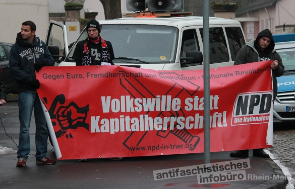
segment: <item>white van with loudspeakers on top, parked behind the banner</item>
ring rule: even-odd
[[[114,64],[156,70],[203,69],[203,17],[178,15],[98,22],[101,37],[112,43]],[[233,65],[246,41],[240,22],[210,18],[209,23],[210,67]],[[76,44],[87,38],[84,29],[69,52],[66,31],[65,25],[49,22],[46,44],[56,66],[74,66]]]

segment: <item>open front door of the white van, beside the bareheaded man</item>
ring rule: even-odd
[[[69,53],[67,28],[64,24],[53,20],[49,21],[48,31],[46,35],[46,45],[50,54],[58,66],[65,60]]]

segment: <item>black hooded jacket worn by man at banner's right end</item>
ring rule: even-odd
[[[262,51],[262,52],[257,46],[258,40],[261,37],[268,37],[271,39],[271,42],[268,45],[268,47],[266,47],[264,49],[264,51]],[[267,54],[271,60],[277,60],[278,67],[275,70],[272,70],[273,95],[275,98],[276,94],[277,94],[277,79],[276,79],[276,77],[283,75],[285,67],[283,65],[280,55],[274,49],[274,46],[275,46],[275,44],[274,44],[274,40],[273,40],[271,32],[268,29],[265,29],[257,35],[256,39],[251,40],[250,42],[248,42],[246,45],[244,45],[239,50],[233,65],[262,61],[260,59],[261,57],[259,56],[260,54]]]

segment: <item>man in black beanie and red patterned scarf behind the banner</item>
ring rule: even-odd
[[[73,54],[76,66],[114,65],[114,53],[109,41],[100,37],[99,23],[91,20],[87,23],[87,39],[79,41]]]

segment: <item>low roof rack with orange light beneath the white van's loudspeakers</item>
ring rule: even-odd
[[[126,17],[182,17],[182,16],[193,16],[193,12],[150,12],[144,11],[139,13],[126,13]]]

